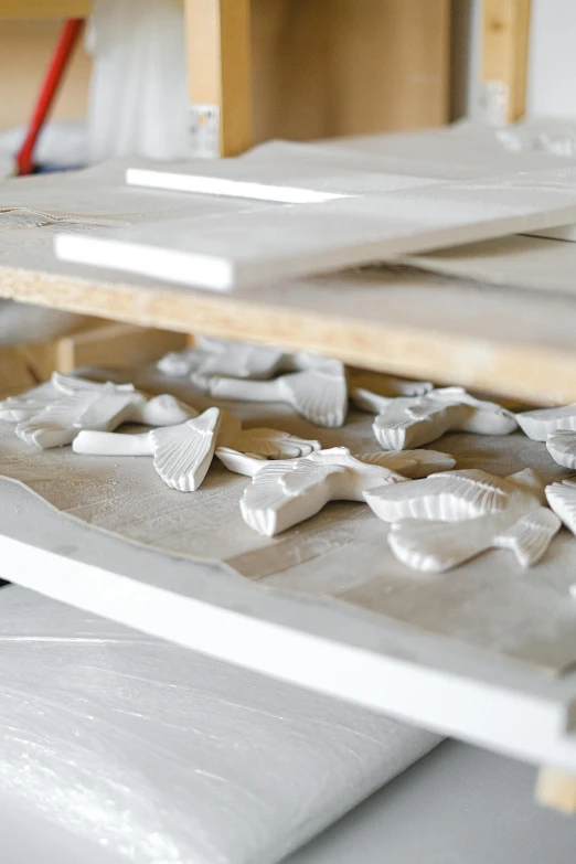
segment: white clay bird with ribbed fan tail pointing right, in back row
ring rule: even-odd
[[[203,385],[217,398],[286,403],[318,426],[342,426],[348,412],[345,372],[338,360],[321,360],[271,381],[213,376]]]

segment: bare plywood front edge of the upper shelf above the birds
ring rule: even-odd
[[[576,402],[576,351],[536,341],[488,341],[469,331],[359,320],[167,286],[116,282],[111,288],[97,280],[9,267],[0,267],[0,297],[146,328],[277,344],[377,372],[461,384],[529,402]],[[456,362],[459,356],[466,363]]]

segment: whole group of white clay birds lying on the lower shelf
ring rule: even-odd
[[[447,431],[508,435],[520,426],[561,466],[576,469],[576,405],[513,414],[461,387],[395,378],[381,378],[383,396],[350,381],[339,361],[211,339],[168,354],[158,369],[167,381],[188,378],[215,399],[286,403],[323,427],[342,426],[352,401],[375,415],[382,449],[322,449],[318,440],[286,431],[244,429],[221,407],[199,414],[169,394],[149,397],[131,384],[57,373],[1,402],[0,419],[40,448],[72,444],[76,454],[150,456],[163,482],[181,492],[199,489],[215,456],[252,478],[242,516],[267,536],[310,519],[329,501],[365,501],[390,523],[396,557],[420,570],[444,570],[491,547],[509,548],[529,566],[544,555],[561,521],[576,533],[576,481],[545,486],[530,468],[506,478],[454,470],[451,456],[415,449]],[[114,431],[126,423],[152,428]]]

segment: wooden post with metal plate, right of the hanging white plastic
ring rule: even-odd
[[[195,150],[236,156],[252,145],[250,0],[184,0]]]

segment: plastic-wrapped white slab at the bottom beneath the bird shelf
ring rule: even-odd
[[[0,797],[122,861],[273,864],[439,742],[15,586],[0,602]]]

